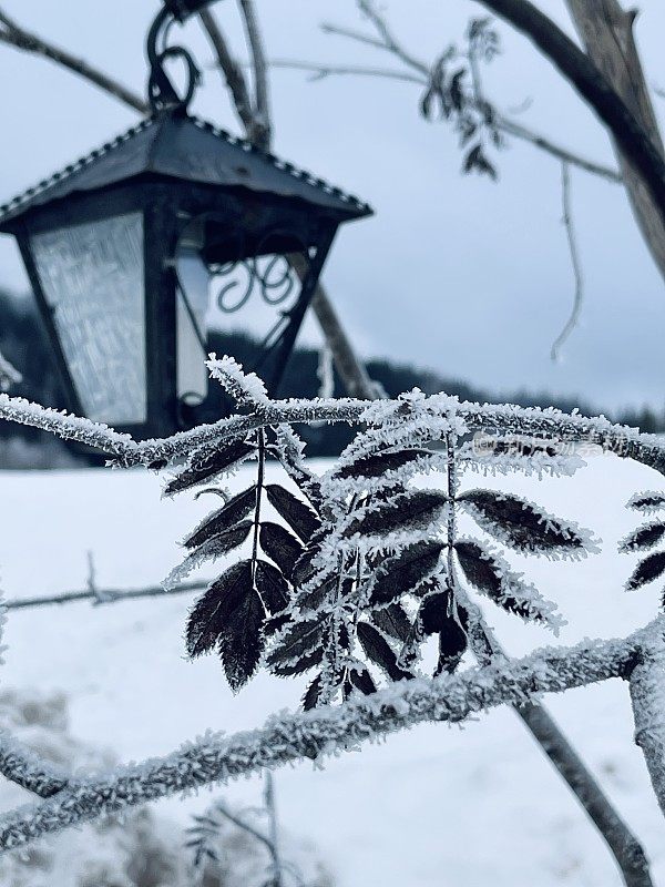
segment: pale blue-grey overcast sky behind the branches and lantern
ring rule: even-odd
[[[540,0],[569,32],[563,0]],[[94,60],[143,91],[143,41],[156,0],[6,0],[25,26]],[[272,58],[393,65],[389,57],[324,34],[334,21],[366,28],[354,0],[257,0]],[[423,60],[460,40],[467,0],[383,0],[391,26]],[[665,8],[644,0],[637,38],[652,84],[665,85]],[[245,55],[233,0],[217,14]],[[613,164],[592,112],[531,44],[499,23],[503,52],[485,72],[502,109],[571,149]],[[196,22],[185,39],[200,63],[211,54]],[[49,62],[0,45],[4,200],[135,122],[130,110]],[[395,81],[300,74],[272,78],[275,151],[367,200],[376,215],[348,225],[325,282],[367,356],[432,367],[494,391],[581,394],[605,407],[665,402],[665,287],[635,227],[624,193],[573,172],[572,200],[584,268],[582,323],[550,360],[570,312],[573,277],[561,224],[560,165],[511,140],[500,180],[463,176],[454,134],[418,113],[418,86]],[[656,110],[665,100],[655,99]],[[239,131],[216,72],[205,71],[195,111]],[[0,283],[27,284],[10,238],[0,237]],[[316,340],[310,323],[306,338]]]

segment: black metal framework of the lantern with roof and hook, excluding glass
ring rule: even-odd
[[[182,7],[182,16],[173,11],[173,3]],[[275,395],[337,228],[371,213],[357,197],[187,113],[197,79],[195,65],[186,50],[158,50],[157,43],[168,23],[186,18],[194,6],[203,3],[173,0],[151,28],[153,114],[0,206],[0,232],[13,234],[19,243],[68,406],[80,415],[85,415],[81,394],[40,279],[31,237],[141,213],[146,416],[145,421],[116,426],[139,438],[166,436],[197,421],[195,414],[194,419],[183,416],[177,397],[176,305],[178,288],[183,289],[177,253],[187,226],[201,221],[201,255],[211,267],[234,259],[231,244],[238,235],[245,244],[239,251],[236,247],[235,258],[241,262],[256,258],[260,244],[277,233],[283,257],[293,253],[305,257],[308,267],[297,298],[278,313],[282,326],[276,340],[265,343],[270,346],[269,365],[262,375]],[[184,99],[163,69],[165,58],[173,54],[184,54],[191,62]],[[184,298],[186,303],[186,293]]]

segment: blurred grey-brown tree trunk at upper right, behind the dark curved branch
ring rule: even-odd
[[[636,13],[618,0],[566,0],[589,57],[621,95],[661,154],[663,140],[633,38]],[[641,174],[621,151],[614,151],[642,236],[665,278],[665,225]]]

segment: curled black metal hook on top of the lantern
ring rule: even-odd
[[[201,3],[201,6],[204,6]],[[166,3],[155,16],[147,32],[146,53],[150,64],[147,99],[153,113],[162,111],[186,112],[201,82],[201,71],[192,54],[184,47],[166,45],[168,30],[175,21],[183,23],[185,16],[178,14],[172,3]],[[185,63],[187,84],[181,95],[164,69],[167,59],[182,59]]]

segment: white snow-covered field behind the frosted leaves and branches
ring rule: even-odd
[[[246,480],[241,475],[232,489]],[[488,481],[577,520],[604,542],[602,554],[580,564],[511,554],[569,620],[555,641],[488,605],[511,653],[586,635],[624,635],[653,618],[661,589],[626,594],[622,584],[633,558],[615,552],[616,541],[637,524],[625,501],[636,490],[658,489],[661,481],[649,469],[601,455],[573,478]],[[142,470],[0,475],[6,597],[84,588],[86,551],[94,554],[100,587],[158,582],[181,557],[177,540],[216,506],[209,497],[162,500],[162,483]],[[259,675],[234,697],[214,657],[184,660],[192,600],[181,594],[13,612],[0,690],[65,693],[72,735],[125,762],[168,753],[207,728],[232,733],[297,707],[303,682]],[[654,879],[665,887],[665,824],[632,742],[626,686],[615,681],[573,691],[548,705],[643,840]],[[509,710],[463,728],[420,726],[335,758],[323,771],[310,762],[284,769],[276,787],[282,824],[317,845],[340,887],[621,883],[593,827]],[[257,804],[260,782],[214,794]],[[187,826],[209,801],[206,792],[154,806]]]

